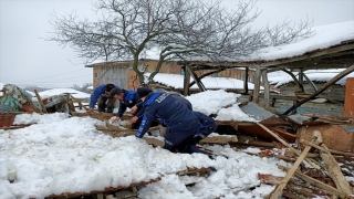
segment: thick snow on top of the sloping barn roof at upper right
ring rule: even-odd
[[[317,49],[326,49],[354,39],[354,21],[313,27],[313,35],[290,44],[261,49],[246,60],[278,60],[302,55]]]

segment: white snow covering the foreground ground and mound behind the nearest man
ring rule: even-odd
[[[237,94],[222,90],[191,95],[195,109],[216,113],[235,105]],[[215,108],[217,107],[217,108]],[[227,108],[225,108],[227,109]],[[235,107],[230,108],[235,115]],[[226,113],[223,113],[226,114]],[[232,115],[232,114],[231,114]],[[250,119],[238,116],[241,121]],[[71,117],[64,113],[21,114],[14,124],[29,127],[0,130],[0,196],[44,198],[51,193],[90,192],[105,187],[128,186],[150,179],[138,190],[139,198],[264,198],[274,187],[261,185],[258,174],[284,176],[277,165],[290,167],[277,158],[249,155],[258,149],[236,151],[229,145],[207,146],[218,156],[174,154],[154,148],[135,136],[113,138],[96,130],[103,122],[91,117]],[[162,137],[158,137],[162,138]],[[226,158],[227,157],[227,158]],[[187,168],[214,167],[206,177],[179,177]],[[9,176],[15,176],[10,184]],[[195,186],[185,186],[195,181]],[[242,191],[250,187],[256,189]]]

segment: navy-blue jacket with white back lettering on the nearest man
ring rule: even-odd
[[[145,135],[155,117],[159,117],[170,129],[197,119],[196,115],[185,104],[166,92],[149,93],[145,98],[144,108],[143,121],[135,134],[136,137]]]

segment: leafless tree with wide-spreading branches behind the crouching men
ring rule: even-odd
[[[253,0],[240,2],[232,11],[214,0],[97,0],[93,4],[102,15],[97,21],[80,20],[74,13],[54,14],[54,32],[49,39],[69,44],[87,62],[133,60],[133,70],[145,85],[167,60],[237,60],[303,36],[309,28],[284,32],[284,23],[278,29],[252,29],[250,23],[259,15],[258,11],[251,12],[254,4]],[[282,39],[275,41],[278,36]],[[138,61],[152,50],[159,60],[145,81]]]

